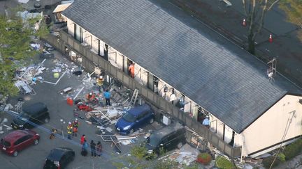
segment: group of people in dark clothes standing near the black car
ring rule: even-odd
[[[89,144],[87,143],[85,134],[82,135],[80,143],[82,145],[82,151],[81,151],[82,156],[87,156]],[[101,156],[101,152],[102,152],[101,141],[99,141],[98,143],[94,143],[94,140],[91,140],[90,152],[93,157]]]

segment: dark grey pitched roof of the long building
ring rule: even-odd
[[[77,0],[64,15],[240,133],[301,90],[181,10],[153,0]]]

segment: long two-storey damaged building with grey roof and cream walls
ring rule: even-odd
[[[259,156],[302,134],[301,88],[178,8],[152,0],[78,0],[62,17],[68,33],[52,45],[70,50],[90,72],[100,67],[141,88],[152,104],[229,156]],[[209,128],[201,124],[207,117]]]

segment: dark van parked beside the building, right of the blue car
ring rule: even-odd
[[[185,127],[175,122],[167,127],[154,131],[146,139],[148,153],[159,154],[161,148],[165,151],[181,148],[185,144]]]

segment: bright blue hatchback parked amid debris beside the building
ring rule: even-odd
[[[117,120],[115,128],[120,134],[127,135],[132,134],[136,129],[143,127],[145,124],[152,124],[153,122],[153,111],[148,104],[143,104],[127,111],[122,118]]]

